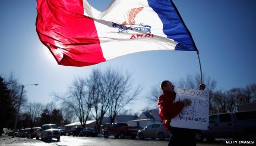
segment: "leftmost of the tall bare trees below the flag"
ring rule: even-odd
[[[54,93],[54,96],[62,101],[62,106],[73,109],[82,127],[85,127],[92,106],[92,99],[89,98],[91,91],[83,78],[75,78],[69,89],[66,95]]]

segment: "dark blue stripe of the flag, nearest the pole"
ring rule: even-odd
[[[189,31],[170,0],[148,0],[148,3],[161,19],[164,34],[178,43],[175,50],[197,50]]]

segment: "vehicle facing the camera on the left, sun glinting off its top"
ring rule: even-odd
[[[41,140],[57,138],[59,141],[60,131],[55,124],[44,124],[36,130],[36,139],[39,140],[39,137],[41,137]]]

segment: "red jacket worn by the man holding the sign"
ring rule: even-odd
[[[173,103],[175,96],[175,92],[164,92],[158,97],[158,115],[166,130],[170,130],[171,119],[176,117],[184,107],[182,102]]]

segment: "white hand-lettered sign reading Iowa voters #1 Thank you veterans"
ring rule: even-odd
[[[174,102],[190,99],[191,105],[171,119],[172,127],[208,130],[209,126],[209,91],[178,88]]]

